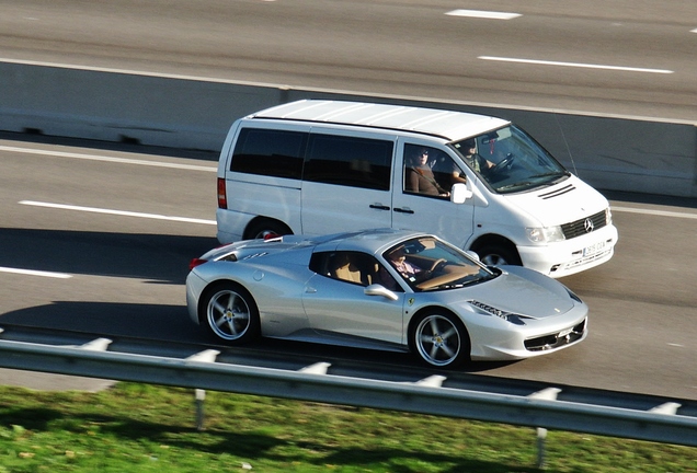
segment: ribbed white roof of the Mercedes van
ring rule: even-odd
[[[258,112],[250,118],[388,128],[435,135],[449,141],[481,135],[510,124],[501,118],[465,112],[324,100],[290,102]]]

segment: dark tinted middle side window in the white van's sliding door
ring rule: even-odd
[[[310,135],[305,181],[389,191],[392,141]]]

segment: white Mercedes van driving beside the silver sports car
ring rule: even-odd
[[[560,277],[607,262],[607,200],[510,122],[298,101],[237,120],[218,165],[218,240],[367,228],[436,233],[490,265]]]

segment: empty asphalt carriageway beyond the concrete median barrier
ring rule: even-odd
[[[466,4],[476,12],[462,12],[462,2],[449,0],[0,0],[0,56],[379,95],[697,118],[695,1]]]

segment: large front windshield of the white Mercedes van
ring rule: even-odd
[[[500,194],[556,184],[571,174],[514,125],[450,145],[489,187]]]

